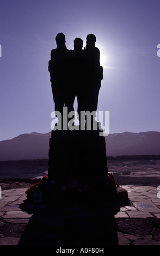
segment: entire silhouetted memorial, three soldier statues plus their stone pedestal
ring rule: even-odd
[[[56,36],[57,48],[48,63],[55,115],[48,152],[48,175],[29,188],[27,198],[41,193],[41,201],[100,202],[116,200],[119,184],[108,173],[106,141],[100,136],[101,125],[95,120],[99,90],[103,80],[100,50],[96,36],[74,40],[74,50],[65,45],[65,35]],[[75,125],[73,103],[77,97]]]

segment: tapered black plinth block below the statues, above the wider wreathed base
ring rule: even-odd
[[[107,175],[106,142],[99,130],[52,130],[48,178]]]

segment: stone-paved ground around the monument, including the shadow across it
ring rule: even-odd
[[[160,199],[152,186],[122,186],[131,205],[24,204],[26,188],[2,191],[0,245],[160,245]],[[24,201],[24,202],[23,202]]]

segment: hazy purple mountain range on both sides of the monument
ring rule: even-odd
[[[0,161],[47,159],[48,133],[24,133],[0,142]],[[107,156],[160,155],[160,132],[123,132],[109,134],[106,138]]]

